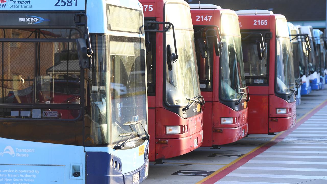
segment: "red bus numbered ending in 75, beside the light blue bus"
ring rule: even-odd
[[[202,110],[194,30],[183,0],[141,0],[146,29],[149,160],[202,145]]]

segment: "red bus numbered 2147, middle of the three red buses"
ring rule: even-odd
[[[230,9],[191,4],[203,108],[204,147],[218,147],[248,133],[248,92],[238,16]],[[220,42],[218,42],[218,38]]]

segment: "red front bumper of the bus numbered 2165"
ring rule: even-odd
[[[292,128],[296,123],[296,115],[287,118],[269,118],[268,133],[281,132]]]

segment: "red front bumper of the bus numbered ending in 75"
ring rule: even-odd
[[[160,141],[159,141],[160,140]],[[164,141],[163,143],[160,143]],[[184,138],[156,139],[156,159],[166,159],[189,153],[202,145],[203,130]],[[196,145],[198,143],[198,145]]]

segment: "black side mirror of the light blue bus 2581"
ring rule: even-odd
[[[90,55],[88,55],[88,48],[86,45],[86,41],[83,38],[77,39],[77,55],[79,59],[79,66],[82,69],[90,68],[91,62],[90,62]]]

